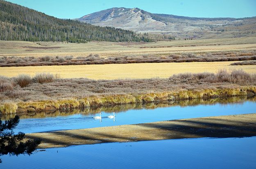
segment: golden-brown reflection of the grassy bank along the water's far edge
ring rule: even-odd
[[[115,105],[115,106],[102,106],[102,107],[87,107],[84,109],[72,109],[72,110],[57,110],[57,111],[41,111],[33,113],[17,113],[21,119],[23,118],[45,118],[45,117],[57,117],[57,116],[70,116],[74,114],[82,115],[95,115],[100,112],[105,113],[119,113],[128,110],[141,110],[141,109],[156,109],[163,107],[172,106],[196,106],[196,105],[227,105],[227,104],[242,104],[245,101],[256,102],[256,96],[254,97],[229,97],[229,98],[213,98],[213,99],[192,99],[192,100],[179,100],[172,102],[153,102],[147,104],[125,104],[125,105]],[[14,118],[15,114],[3,114],[1,116],[2,120],[8,120],[9,118]]]

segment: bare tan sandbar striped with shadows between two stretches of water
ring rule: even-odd
[[[181,138],[229,138],[256,136],[256,113],[170,120],[136,125],[97,127],[29,133],[26,138],[41,138],[39,148],[89,145],[105,142],[134,142]]]

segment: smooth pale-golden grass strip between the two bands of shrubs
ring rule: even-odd
[[[235,61],[236,62],[236,61]],[[169,78],[177,73],[217,72],[219,69],[243,69],[256,73],[256,65],[229,66],[233,62],[182,62],[93,64],[68,66],[0,67],[0,75],[34,75],[37,72],[57,73],[61,78],[119,79],[119,78]]]

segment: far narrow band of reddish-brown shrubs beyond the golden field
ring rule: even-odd
[[[255,51],[218,52],[207,54],[181,53],[169,56],[142,55],[142,56],[112,56],[100,58],[98,54],[88,56],[44,56],[44,57],[0,57],[0,67],[11,66],[45,66],[45,65],[82,65],[82,64],[116,64],[116,63],[153,63],[153,62],[215,62],[215,61],[242,61],[256,60]]]

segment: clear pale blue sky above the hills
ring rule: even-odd
[[[57,18],[79,18],[112,7],[190,17],[256,16],[256,0],[7,0]]]

